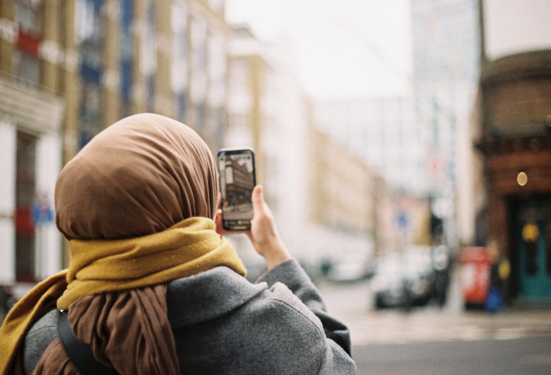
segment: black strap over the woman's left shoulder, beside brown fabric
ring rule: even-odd
[[[71,329],[67,315],[67,311],[61,313],[57,322],[57,335],[60,337],[67,356],[71,358],[78,370],[84,375],[117,375],[114,369],[106,367],[96,360],[88,344],[77,339]]]

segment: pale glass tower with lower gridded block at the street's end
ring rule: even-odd
[[[452,250],[474,238],[469,126],[479,72],[476,0],[411,2],[410,95],[323,101],[314,118],[396,192],[429,200]]]

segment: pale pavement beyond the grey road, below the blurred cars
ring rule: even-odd
[[[316,282],[328,312],[348,325],[353,345],[511,340],[551,336],[551,308],[505,307],[497,313],[467,311],[454,274],[445,306],[376,310],[369,281]]]

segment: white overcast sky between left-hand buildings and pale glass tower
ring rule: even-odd
[[[229,23],[257,39],[288,40],[296,73],[315,99],[407,92],[408,0],[226,0]]]

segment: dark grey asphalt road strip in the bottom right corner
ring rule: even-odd
[[[551,374],[551,337],[353,347],[360,374]]]

